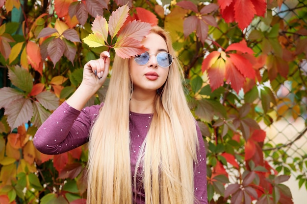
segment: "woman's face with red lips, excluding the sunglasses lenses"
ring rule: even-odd
[[[134,59],[130,60],[130,76],[134,91],[156,91],[166,81],[169,67],[163,68],[158,65],[156,55],[160,52],[168,52],[164,39],[156,34],[150,33],[142,44],[148,49],[150,59],[147,64],[139,65]]]

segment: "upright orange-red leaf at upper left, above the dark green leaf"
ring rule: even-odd
[[[40,48],[36,43],[29,41],[26,44],[26,54],[28,63],[40,74],[43,73],[42,56]]]

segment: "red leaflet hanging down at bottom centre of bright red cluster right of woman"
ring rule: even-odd
[[[239,93],[245,82],[245,77],[235,68],[230,60],[226,61],[226,81],[237,93]]]

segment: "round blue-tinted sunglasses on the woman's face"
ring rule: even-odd
[[[149,62],[150,56],[155,54],[149,54],[148,52],[144,52],[140,55],[134,57],[134,61],[138,65],[146,65]],[[167,52],[160,52],[155,55],[157,59],[157,63],[162,68],[168,68],[171,66],[173,62],[173,56]]]

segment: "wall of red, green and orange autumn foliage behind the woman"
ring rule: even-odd
[[[76,90],[83,65],[105,49],[81,43],[95,17],[108,19],[127,2],[128,20],[172,36],[207,144],[209,202],[293,203],[282,182],[292,171],[307,188],[307,157],[289,160],[286,150],[306,122],[277,145],[260,124],[306,121],[307,0],[0,0],[0,203],[84,203],[86,145],[47,156],[32,138]],[[291,95],[279,93],[284,83]]]

